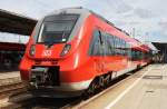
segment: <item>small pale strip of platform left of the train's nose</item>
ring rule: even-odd
[[[19,71],[0,73],[0,86],[13,85],[19,82],[21,82]]]

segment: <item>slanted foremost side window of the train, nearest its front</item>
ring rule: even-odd
[[[99,30],[95,30],[90,41],[89,54],[100,56],[102,53],[101,46],[102,46],[101,32]]]

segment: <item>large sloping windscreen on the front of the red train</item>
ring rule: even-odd
[[[37,41],[48,44],[68,41],[78,17],[78,14],[59,14],[45,18]]]

